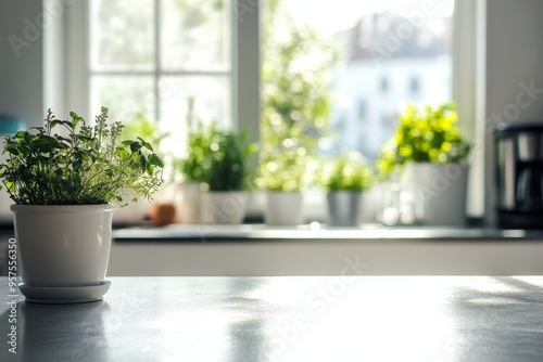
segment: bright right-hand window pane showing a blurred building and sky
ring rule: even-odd
[[[327,152],[355,150],[372,160],[406,102],[452,99],[454,0],[282,3],[296,24],[311,26],[341,49],[343,61],[332,69],[330,82],[329,124],[336,134],[323,142],[331,144]],[[283,28],[266,30],[277,38],[285,37]]]

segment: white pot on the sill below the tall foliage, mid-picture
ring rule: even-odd
[[[264,221],[268,225],[292,227],[304,221],[301,192],[268,191]]]

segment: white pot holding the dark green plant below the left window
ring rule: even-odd
[[[205,193],[205,220],[209,223],[242,223],[248,198],[249,194],[243,191],[210,191]]]

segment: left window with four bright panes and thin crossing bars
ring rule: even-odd
[[[129,122],[156,120],[182,150],[188,119],[232,121],[232,24],[228,0],[93,0],[89,14],[90,108]]]

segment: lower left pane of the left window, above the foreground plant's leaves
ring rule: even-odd
[[[112,120],[129,121],[142,113],[154,119],[154,82],[150,76],[93,76],[91,78],[91,114],[100,106],[110,108]]]

